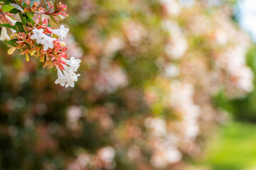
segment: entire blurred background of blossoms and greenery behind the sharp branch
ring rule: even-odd
[[[75,88],[0,42],[0,169],[256,169],[255,0],[63,2]]]

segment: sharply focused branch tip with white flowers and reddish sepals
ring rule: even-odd
[[[7,43],[13,47],[8,51],[11,55],[16,49],[21,50],[21,55],[26,56],[26,61],[30,60],[29,55],[39,58],[40,62],[44,62],[44,66],[49,68],[55,67],[58,72],[58,79],[55,84],[61,86],[72,86],[78,81],[80,74],[76,74],[80,66],[80,60],[75,60],[71,57],[67,60],[68,55],[65,53],[67,48],[64,38],[68,35],[68,28],[61,25],[59,29],[50,27],[49,20],[41,18],[38,22],[34,21],[35,13],[41,13],[53,18],[56,22],[56,17],[63,19],[68,14],[65,13],[67,6],[61,2],[53,4],[51,1],[46,3],[46,8],[38,6],[39,1],[13,1],[13,3],[5,2],[0,8],[0,15],[3,16],[0,20],[1,37],[0,40],[9,40]],[[6,8],[9,6],[9,8]],[[54,10],[52,10],[54,8]],[[21,16],[22,22],[16,22],[14,15],[10,10],[15,9]],[[11,16],[11,17],[10,17]],[[12,34],[8,35],[7,29],[11,28]]]

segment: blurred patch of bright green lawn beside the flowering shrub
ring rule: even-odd
[[[213,170],[242,170],[256,167],[256,125],[230,123],[208,144],[203,164]]]

